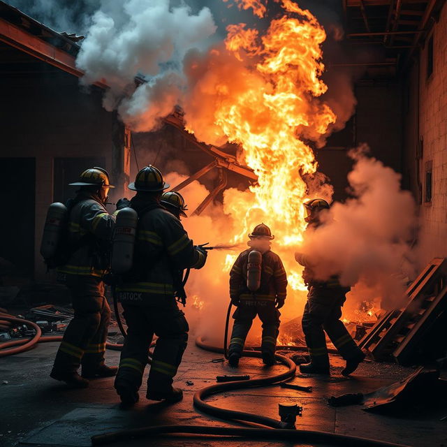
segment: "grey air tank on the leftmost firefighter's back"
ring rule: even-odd
[[[45,260],[51,259],[56,254],[67,214],[68,210],[64,203],[55,202],[48,207],[41,240],[41,255]]]

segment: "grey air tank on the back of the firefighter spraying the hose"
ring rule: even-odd
[[[117,214],[112,241],[112,272],[129,272],[133,263],[133,249],[138,225],[138,214],[132,208],[123,208]]]

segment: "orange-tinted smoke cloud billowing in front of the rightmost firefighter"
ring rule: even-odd
[[[400,175],[367,156],[364,145],[351,152],[355,161],[348,180],[352,198],[334,203],[324,225],[308,230],[298,251],[309,255],[318,279],[339,274],[342,284],[360,294],[395,299],[403,291],[402,276],[414,274],[413,238],[416,204],[400,187]],[[372,298],[372,296],[363,299]]]

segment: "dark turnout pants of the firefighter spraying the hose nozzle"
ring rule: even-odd
[[[150,307],[124,304],[127,337],[115,379],[117,386],[138,391],[147,364],[147,352],[154,334],[156,341],[152,365],[147,379],[147,393],[170,393],[173,378],[182,362],[188,342],[189,326],[174,298]]]

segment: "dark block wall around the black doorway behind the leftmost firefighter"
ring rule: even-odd
[[[3,87],[3,104],[8,107],[2,108],[1,119],[8,132],[2,135],[2,147],[7,150],[0,156],[36,160],[34,279],[52,281],[39,249],[47,207],[53,201],[54,158],[101,156],[111,172],[116,118],[103,109],[101,91],[82,90],[78,79],[68,73],[17,76]],[[21,249],[20,241],[17,249]]]

